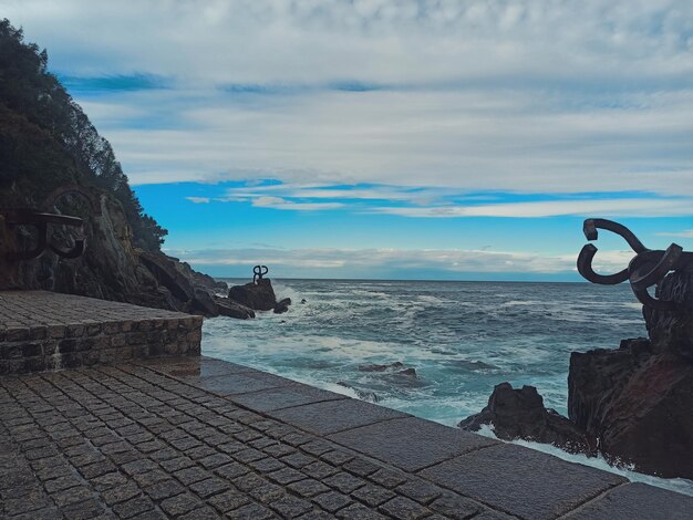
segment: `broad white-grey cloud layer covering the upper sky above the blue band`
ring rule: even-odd
[[[407,187],[693,197],[687,0],[0,7],[135,185],[376,184],[421,206]]]

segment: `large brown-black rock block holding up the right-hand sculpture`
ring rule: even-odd
[[[650,340],[572,353],[568,415],[607,458],[693,479],[693,274],[670,273],[658,298],[683,303],[678,312],[645,308]]]

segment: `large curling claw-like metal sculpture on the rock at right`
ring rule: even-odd
[[[669,246],[665,251],[648,249],[625,226],[602,218],[585,220],[582,230],[588,240],[597,240],[598,229],[606,229],[623,237],[635,256],[622,271],[613,274],[598,274],[592,269],[597,247],[587,243],[578,256],[578,271],[585,279],[601,285],[616,285],[628,280],[635,298],[643,305],[658,311],[675,311],[683,305],[681,302],[653,298],[648,289],[656,285],[670,271],[693,272],[693,252],[684,252],[683,248],[676,243]]]

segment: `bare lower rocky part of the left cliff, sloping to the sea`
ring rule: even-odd
[[[196,272],[176,258],[135,248],[121,204],[94,188],[82,187],[80,191],[99,205],[96,211],[93,207],[85,209],[73,196],[64,197],[60,207],[45,208],[84,220],[86,249],[76,259],[60,258],[46,250],[33,260],[9,261],[6,253],[30,248],[32,238],[29,229],[9,229],[0,217],[0,290],[43,289],[206,316],[219,314],[211,294],[225,291],[225,283]],[[52,240],[64,247],[74,237],[70,229],[52,230]],[[251,316],[238,309],[228,314]]]

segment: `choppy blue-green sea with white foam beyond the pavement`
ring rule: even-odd
[[[225,280],[229,284],[245,280]],[[272,280],[286,314],[215,318],[203,353],[455,426],[478,413],[495,385],[536,386],[547,407],[567,414],[571,352],[616,349],[645,336],[630,288],[589,283]],[[304,300],[306,303],[301,303]],[[364,365],[400,362],[397,370]],[[483,431],[493,435],[493,430]],[[693,482],[614,469],[599,458],[573,461],[620,471],[693,495]]]

